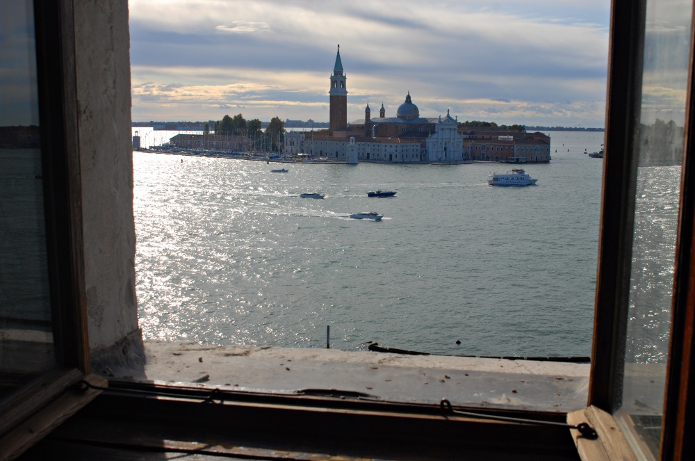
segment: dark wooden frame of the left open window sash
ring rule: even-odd
[[[17,455],[94,398],[89,375],[72,0],[34,0],[44,216],[57,367],[0,407],[0,453]]]

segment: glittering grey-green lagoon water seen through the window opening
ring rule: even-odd
[[[488,186],[501,163],[277,174],[134,152],[145,339],[325,348],[330,325],[342,350],[590,355],[603,161],[583,152],[603,133],[549,134],[553,159],[525,165],[538,184],[523,188]],[[325,199],[299,197],[314,191]]]

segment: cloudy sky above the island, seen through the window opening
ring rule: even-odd
[[[603,127],[609,0],[130,0],[134,122],[423,117]]]

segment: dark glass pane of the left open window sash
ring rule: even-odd
[[[33,3],[0,3],[0,401],[56,363]]]

